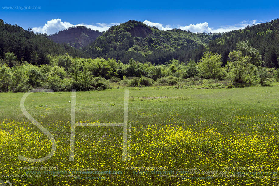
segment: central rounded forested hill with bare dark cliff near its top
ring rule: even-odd
[[[83,50],[93,58],[113,58],[123,63],[128,63],[131,58],[155,64],[172,59],[187,62],[199,60],[205,45],[218,37],[221,34],[192,33],[181,29],[163,31],[130,20],[112,26]]]

